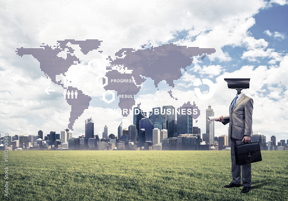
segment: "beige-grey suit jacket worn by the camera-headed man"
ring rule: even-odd
[[[232,100],[232,102],[234,99]],[[231,102],[231,104],[232,104]],[[231,138],[242,140],[245,136],[251,136],[253,99],[243,94],[236,101],[233,111],[229,107],[229,119],[224,119],[223,124],[229,123],[229,134]]]

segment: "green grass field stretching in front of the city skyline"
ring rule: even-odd
[[[9,152],[0,200],[288,200],[288,151],[262,151],[252,190],[232,181],[229,151]]]

